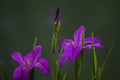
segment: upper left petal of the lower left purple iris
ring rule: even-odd
[[[20,65],[24,65],[24,60],[22,58],[22,55],[19,52],[12,53],[11,57],[18,62]]]

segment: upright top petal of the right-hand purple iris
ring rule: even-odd
[[[74,40],[77,44],[82,44],[82,36],[85,33],[85,27],[80,26],[74,33]]]

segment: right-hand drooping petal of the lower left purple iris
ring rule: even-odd
[[[39,59],[34,66],[40,68],[40,70],[44,74],[46,74],[46,75],[50,74],[50,68],[49,68],[50,66],[46,59],[43,59],[43,58]]]

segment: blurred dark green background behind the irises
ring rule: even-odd
[[[102,80],[120,80],[120,1],[119,0],[0,0],[0,61],[12,79],[14,69],[19,65],[11,58],[13,51],[22,55],[30,52],[34,37],[43,46],[42,57],[51,65],[51,40],[53,19],[56,8],[60,8],[60,42],[64,38],[73,39],[74,31],[85,25],[86,35],[100,38],[103,49],[97,49],[100,66],[113,41],[115,45],[109,56]],[[74,62],[65,64],[68,80],[74,80]],[[89,80],[92,69],[92,51],[85,50],[80,80]],[[0,70],[1,72],[1,70]],[[50,80],[40,70],[35,69],[35,80]],[[0,80],[2,79],[0,73]]]

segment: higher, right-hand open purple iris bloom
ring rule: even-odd
[[[84,45],[82,45],[82,36],[85,33],[85,27],[80,26],[74,33],[74,40],[64,39],[60,42],[59,51],[64,46],[63,53],[60,57],[60,66],[63,67],[67,60],[75,60],[79,55],[82,49],[92,49],[94,47],[102,48],[103,45],[101,41],[97,38],[86,37],[84,38]],[[93,44],[94,42],[94,44]]]

